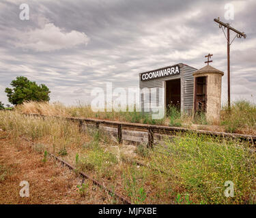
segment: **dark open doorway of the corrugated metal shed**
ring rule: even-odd
[[[180,79],[166,81],[166,106],[180,110]]]

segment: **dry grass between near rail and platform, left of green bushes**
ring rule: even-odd
[[[110,151],[111,146],[117,144],[104,135],[100,136],[96,131],[92,136],[81,134],[76,123],[50,117],[42,119],[24,116],[15,111],[0,112],[0,128],[8,131],[13,144],[19,144],[20,138],[32,140],[35,151],[42,153],[41,159],[44,151],[55,153],[102,181],[106,187],[129,196],[134,203],[173,202],[173,196],[167,193],[161,194],[161,198],[154,198],[159,189],[165,189],[169,178],[162,178],[162,174],[156,174],[148,168],[137,168],[126,163],[125,152],[117,157]],[[63,152],[64,149],[66,152]],[[76,163],[77,154],[78,163]],[[156,186],[158,189],[155,188]],[[140,197],[144,192],[147,195],[145,199]]]

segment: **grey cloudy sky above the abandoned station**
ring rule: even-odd
[[[29,20],[20,20],[20,4]],[[234,19],[225,20],[225,4]],[[138,87],[139,72],[186,63],[197,69],[212,53],[225,72],[227,42],[214,18],[244,31],[231,45],[231,99],[256,102],[256,1],[55,0],[0,2],[0,101],[16,76],[51,90],[51,102],[87,102],[91,89]],[[235,33],[231,33],[231,39]]]

